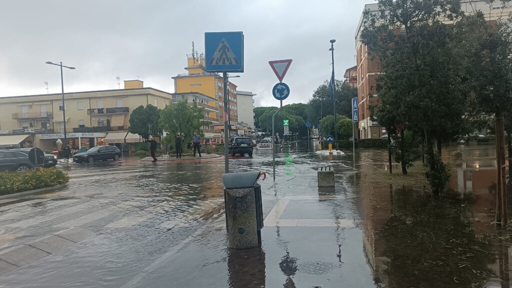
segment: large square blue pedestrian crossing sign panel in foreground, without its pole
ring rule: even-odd
[[[244,72],[243,32],[204,33],[207,72]]]

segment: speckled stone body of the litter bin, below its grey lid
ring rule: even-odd
[[[225,203],[229,248],[258,247],[254,189],[226,189]]]

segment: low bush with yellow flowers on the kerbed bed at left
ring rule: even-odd
[[[68,173],[56,168],[29,172],[0,172],[0,195],[52,187],[69,182]]]

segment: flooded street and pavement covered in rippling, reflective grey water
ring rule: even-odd
[[[354,165],[351,153],[302,147],[278,155],[275,182],[269,152],[230,160],[232,172],[269,176],[262,247],[250,250],[227,249],[222,160],[62,168],[65,188],[0,206],[0,259],[70,228],[87,237],[10,270],[0,260],[0,287],[509,286],[512,249],[491,223],[495,177],[484,169],[494,147],[444,150],[461,149],[469,165],[443,197],[368,181],[386,150],[359,149]],[[322,166],[335,167],[334,191],[318,190]]]

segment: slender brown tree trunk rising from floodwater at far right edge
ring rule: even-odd
[[[501,193],[501,223],[503,227],[507,226],[508,223],[508,211],[507,211],[507,186],[506,186],[506,169],[505,169],[505,121],[503,119],[503,111],[498,108],[496,111],[496,142],[498,143],[500,160],[496,161],[499,163],[498,165],[498,173],[500,178],[498,182],[501,184],[500,191]]]

